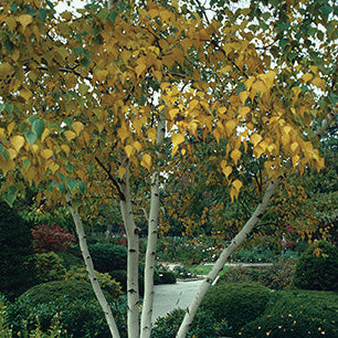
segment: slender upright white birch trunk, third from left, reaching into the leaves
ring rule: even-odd
[[[156,144],[161,146],[166,135],[166,117],[161,112],[159,114],[159,122],[157,127]],[[157,152],[160,158],[160,152]],[[156,246],[158,234],[158,220],[159,220],[159,168],[151,176],[151,190],[150,190],[150,211],[148,218],[148,243],[146,252],[145,265],[145,296],[141,314],[141,338],[149,338],[151,331],[151,316],[154,303],[154,268],[156,261]]]

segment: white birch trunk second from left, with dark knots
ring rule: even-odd
[[[128,303],[128,337],[139,337],[139,289],[138,289],[138,258],[139,258],[139,229],[134,221],[130,200],[129,166],[126,165],[126,173],[120,182],[123,199],[120,210],[128,240],[127,256],[127,303]]]

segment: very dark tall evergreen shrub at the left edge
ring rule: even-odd
[[[0,201],[0,292],[9,298],[32,286],[34,266],[28,263],[32,254],[29,223]]]

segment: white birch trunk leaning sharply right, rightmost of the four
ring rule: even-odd
[[[252,214],[250,220],[245,223],[243,229],[237,233],[237,235],[231,241],[231,243],[228,245],[228,247],[225,247],[223,250],[222,254],[220,255],[220,257],[215,262],[213,268],[211,270],[209,275],[203,281],[200,289],[198,291],[198,293],[194,297],[194,299],[192,300],[189,308],[187,309],[184,319],[183,319],[183,321],[182,321],[182,324],[179,328],[179,331],[176,336],[177,338],[184,338],[187,336],[188,330],[189,330],[189,328],[192,324],[192,320],[194,318],[194,315],[196,315],[202,299],[204,298],[207,292],[209,291],[210,286],[212,285],[212,283],[214,282],[214,279],[216,278],[219,273],[224,267],[224,264],[226,263],[226,261],[229,260],[229,257],[233,253],[233,251],[245,241],[247,235],[251,233],[251,231],[258,223],[258,221],[262,218],[266,207],[270,203],[270,200],[271,200],[272,196],[275,193],[279,182],[281,182],[281,178],[277,178],[275,181],[272,181],[268,184],[268,187],[265,191],[265,194],[262,199],[262,202],[257,205],[255,212]]]

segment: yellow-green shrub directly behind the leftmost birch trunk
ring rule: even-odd
[[[95,272],[97,281],[103,291],[105,291],[113,299],[118,299],[122,295],[122,287],[118,282],[112,278],[109,274]],[[64,281],[81,281],[91,283],[88,272],[85,267],[73,266],[68,270],[63,278]]]

